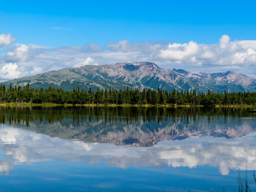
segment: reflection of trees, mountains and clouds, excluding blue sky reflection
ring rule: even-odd
[[[1,107],[0,114],[1,173],[53,159],[104,159],[120,168],[209,165],[223,175],[256,170],[256,119],[246,109]]]

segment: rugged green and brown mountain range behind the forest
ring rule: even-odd
[[[167,90],[194,90],[207,92],[256,91],[256,80],[244,74],[232,71],[218,73],[192,73],[183,69],[163,69],[153,62],[125,62],[114,65],[85,65],[78,68],[64,68],[34,76],[18,78],[4,82],[7,86],[24,86],[30,83],[32,88],[61,87],[64,90],[92,90],[116,88],[153,88]]]

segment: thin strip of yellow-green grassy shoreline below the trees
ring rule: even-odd
[[[0,106],[84,106],[84,107],[184,107],[184,108],[193,108],[193,107],[214,107],[214,108],[252,108],[253,105],[214,105],[214,106],[203,106],[203,105],[191,105],[191,104],[56,104],[56,103],[0,103]]]

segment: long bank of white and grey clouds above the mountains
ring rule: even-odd
[[[86,44],[51,48],[32,44],[12,44],[11,34],[0,34],[0,46],[6,55],[0,56],[0,69],[10,64],[26,68],[22,73],[4,73],[6,79],[30,76],[39,72],[79,67],[88,64],[151,61],[162,68],[183,68],[192,72],[224,72],[227,70],[256,74],[256,40],[230,40],[223,35],[216,44],[135,42],[121,40],[105,46]],[[17,76],[14,76],[17,75]]]

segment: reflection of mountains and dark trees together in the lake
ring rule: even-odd
[[[153,146],[192,136],[235,138],[255,130],[236,108],[0,108],[0,123],[84,142]]]

